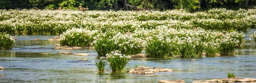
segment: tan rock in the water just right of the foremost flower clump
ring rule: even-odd
[[[132,74],[144,75],[144,74],[154,74],[155,72],[171,72],[171,71],[172,69],[163,69],[161,67],[151,68],[151,67],[140,66],[138,68],[131,69],[128,72]]]

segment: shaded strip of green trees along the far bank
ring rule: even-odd
[[[256,0],[0,0],[0,9],[32,8],[77,9],[79,6],[93,9],[125,9],[125,1],[131,6],[145,9],[185,9],[197,8],[255,8]],[[199,3],[200,1],[200,3]],[[116,4],[117,3],[117,4]],[[200,4],[200,5],[199,5]]]

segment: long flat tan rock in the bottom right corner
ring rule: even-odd
[[[255,78],[223,78],[206,80],[208,82],[256,82]]]

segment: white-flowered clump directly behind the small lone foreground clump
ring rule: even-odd
[[[144,49],[143,40],[118,33],[113,37],[100,36],[93,42],[93,47],[98,55],[106,55],[114,50],[119,50],[125,55],[142,53]]]

